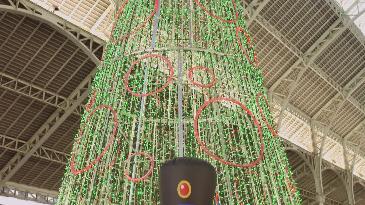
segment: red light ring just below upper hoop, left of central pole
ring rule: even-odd
[[[169,80],[165,83],[164,86],[162,86],[162,88],[160,89],[157,89],[155,90],[154,92],[151,92],[151,93],[146,93],[146,94],[140,94],[140,93],[135,93],[133,92],[129,87],[128,87],[128,78],[129,78],[129,75],[131,74],[131,71],[132,71],[132,68],[137,65],[137,63],[143,59],[146,59],[146,58],[150,58],[150,57],[158,57],[158,58],[162,58],[169,66],[169,69],[170,69],[170,77],[169,77]],[[145,96],[151,96],[151,95],[154,95],[158,92],[161,92],[161,90],[165,89],[169,83],[172,81],[172,77],[174,76],[174,68],[172,67],[172,64],[171,62],[163,57],[162,55],[158,55],[158,54],[150,54],[150,55],[145,55],[144,57],[142,58],[138,58],[137,61],[135,61],[128,69],[127,73],[126,73],[126,77],[124,79],[124,85],[126,86],[126,89],[128,90],[128,92],[130,92],[132,95],[134,96],[137,96],[137,97],[145,97]]]

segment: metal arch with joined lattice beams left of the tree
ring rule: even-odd
[[[90,59],[99,65],[100,59],[94,54],[97,50],[102,49],[104,42],[80,28],[76,28],[72,24],[69,24],[65,20],[52,15],[45,9],[35,5],[27,0],[17,0],[16,3],[9,0],[10,5],[0,5],[0,11],[16,13],[22,16],[27,16],[32,19],[36,19],[39,22],[43,22],[53,27],[56,31],[68,37],[75,45],[77,45]],[[87,42],[87,43],[86,43]],[[86,44],[85,44],[86,43]],[[97,46],[93,46],[96,43]],[[17,151],[16,155],[9,160],[0,170],[0,187],[4,187],[5,183],[20,169],[20,167],[33,155],[39,158],[49,158],[57,162],[64,163],[65,153],[55,152],[54,150],[45,149],[42,147],[49,136],[59,127],[59,125],[66,120],[66,118],[75,110],[76,114],[81,116],[84,111],[84,106],[80,106],[82,102],[87,98],[89,94],[89,88],[92,83],[92,78],[96,73],[97,67],[95,67],[91,73],[85,78],[80,85],[70,94],[68,97],[60,97],[55,93],[50,93],[47,90],[38,88],[27,82],[22,82],[19,79],[12,79],[11,83],[1,85],[5,89],[10,89],[19,94],[26,95],[28,97],[35,98],[46,104],[51,104],[57,108],[57,110],[49,117],[49,119],[38,129],[38,131],[27,141],[19,141],[16,139],[10,139],[12,143],[3,143],[2,147],[10,150]],[[4,77],[3,75],[2,77]],[[5,76],[9,77],[9,76]],[[15,87],[12,86],[15,83]],[[21,85],[17,87],[16,85]],[[7,86],[9,85],[9,86]],[[26,89],[28,88],[28,89]],[[34,89],[36,89],[34,91]],[[37,90],[38,89],[38,90]],[[27,92],[23,92],[27,90]],[[37,93],[37,94],[29,94]],[[39,94],[41,93],[41,94]],[[45,93],[51,94],[50,97],[44,98]],[[41,96],[41,97],[39,97]],[[9,139],[7,136],[1,136],[2,139]],[[20,144],[21,145],[20,145]],[[14,166],[15,165],[15,166]],[[5,187],[2,189],[3,192]],[[9,189],[7,189],[9,190]]]

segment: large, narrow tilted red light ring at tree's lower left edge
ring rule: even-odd
[[[84,128],[85,128],[85,125],[86,123],[88,123],[88,121],[90,120],[91,116],[100,108],[108,108],[112,111],[113,113],[113,117],[114,117],[114,127],[113,127],[113,131],[112,131],[112,136],[110,137],[110,140],[107,144],[107,146],[105,146],[104,150],[101,152],[101,154],[99,156],[97,156],[97,158],[91,162],[87,167],[85,167],[84,169],[80,169],[80,170],[75,170],[74,169],[74,157],[75,157],[75,154],[76,154],[76,148],[77,148],[77,144],[78,144],[78,141],[80,140],[81,138],[81,135],[82,135],[82,132],[84,131]],[[72,158],[71,158],[71,170],[73,173],[75,174],[79,174],[79,173],[82,173],[88,169],[90,169],[91,167],[93,167],[96,162],[98,162],[100,160],[100,158],[105,154],[105,152],[107,152],[107,150],[109,149],[110,145],[112,144],[113,140],[114,140],[114,136],[115,136],[115,133],[116,133],[116,128],[117,128],[117,124],[118,124],[118,116],[116,115],[116,112],[114,110],[113,107],[111,107],[110,105],[100,105],[99,107],[97,107],[94,111],[92,111],[92,113],[90,113],[89,117],[85,120],[84,124],[82,125],[81,127],[81,130],[77,136],[77,140],[76,140],[76,143],[75,143],[75,146],[73,148],[73,154],[72,154]]]

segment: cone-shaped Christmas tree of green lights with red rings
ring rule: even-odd
[[[160,204],[179,155],[215,166],[217,205],[299,204],[237,4],[122,1],[58,205]]]

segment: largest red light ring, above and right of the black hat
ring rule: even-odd
[[[225,101],[230,101],[233,102],[235,104],[240,105],[250,116],[251,118],[254,120],[254,123],[260,133],[260,141],[261,141],[261,149],[260,149],[260,155],[258,156],[257,160],[255,160],[254,162],[250,163],[250,164],[240,164],[240,163],[234,163],[234,162],[228,162],[227,160],[224,160],[222,158],[219,158],[218,156],[215,156],[212,152],[210,152],[207,148],[204,147],[203,142],[201,142],[200,139],[200,135],[198,132],[198,119],[199,119],[199,115],[201,113],[201,111],[210,103],[212,102],[216,102],[216,101],[220,101],[220,100],[225,100]],[[211,100],[205,102],[203,105],[200,106],[200,108],[198,109],[198,111],[196,112],[195,115],[195,119],[194,119],[194,134],[195,134],[195,138],[196,140],[199,142],[201,148],[203,148],[203,150],[205,152],[207,152],[209,155],[211,155],[214,159],[229,165],[229,166],[233,166],[233,167],[253,167],[255,165],[257,165],[262,157],[264,156],[264,139],[262,138],[262,132],[261,132],[261,127],[260,125],[257,123],[257,120],[255,119],[255,117],[253,116],[253,114],[245,107],[245,105],[243,105],[241,102],[238,102],[236,100],[233,100],[231,98],[226,98],[226,97],[216,97],[216,98],[212,98]]]

